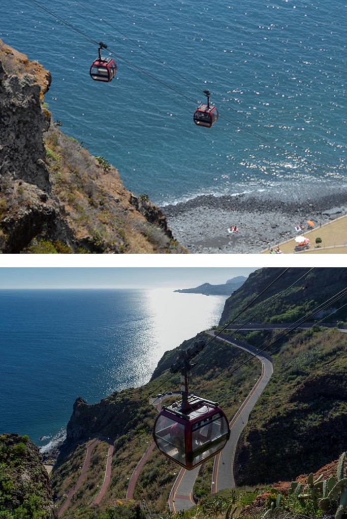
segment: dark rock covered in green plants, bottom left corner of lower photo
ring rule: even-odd
[[[51,494],[36,445],[27,436],[1,434],[0,515],[58,519]]]

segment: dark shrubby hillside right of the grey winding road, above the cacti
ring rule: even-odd
[[[346,334],[296,332],[270,352],[274,375],[238,445],[238,485],[315,472],[347,445]]]

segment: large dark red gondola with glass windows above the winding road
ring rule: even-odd
[[[186,470],[192,470],[222,450],[229,440],[230,428],[217,402],[188,395],[189,360],[203,346],[199,341],[181,353],[171,373],[181,371],[182,400],[163,406],[154,422],[153,438],[158,449]]]

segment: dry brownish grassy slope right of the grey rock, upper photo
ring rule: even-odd
[[[92,241],[98,252],[184,252],[132,206],[118,171],[103,157],[90,155],[55,125],[45,135],[45,146],[53,194],[77,239]]]

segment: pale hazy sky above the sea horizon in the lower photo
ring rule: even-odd
[[[192,288],[248,276],[257,267],[0,268],[0,289]]]

